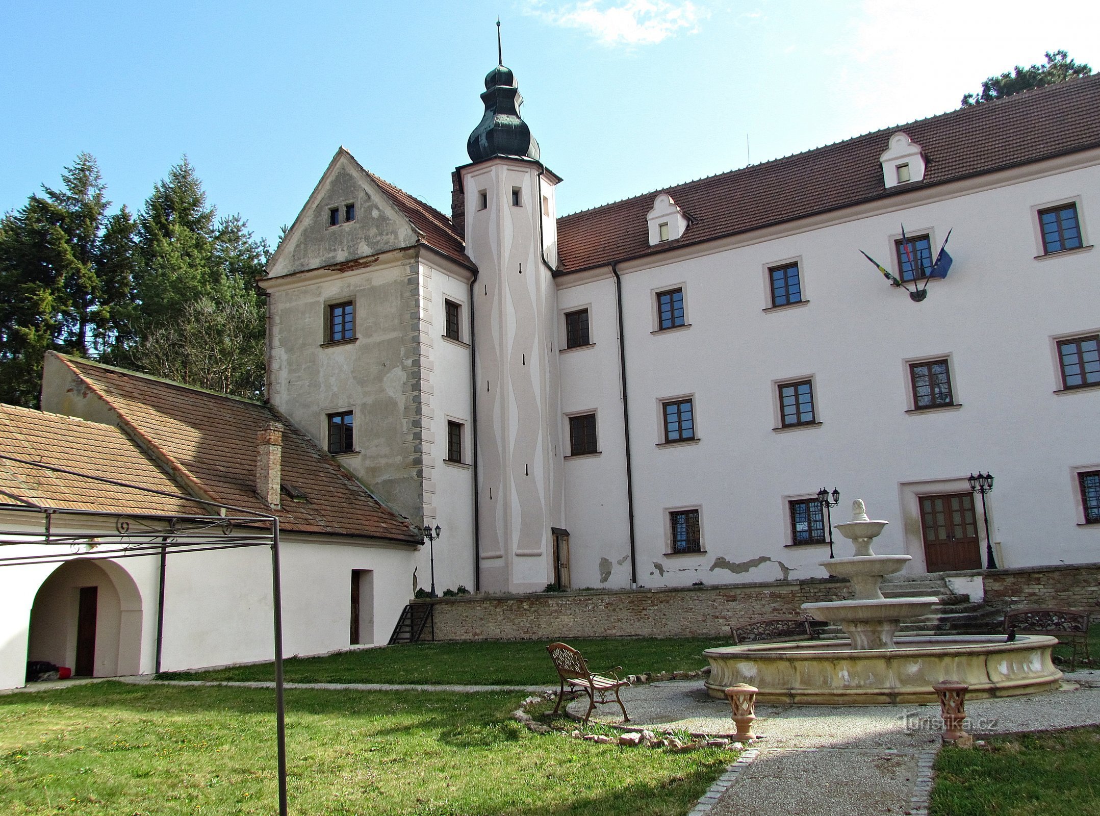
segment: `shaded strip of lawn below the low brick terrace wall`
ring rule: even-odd
[[[326,658],[293,658],[284,663],[289,683],[463,683],[473,685],[558,685],[548,641],[410,643],[341,652]],[[728,646],[721,638],[602,638],[570,640],[593,671],[615,665],[626,674],[696,671],[703,650]],[[167,680],[274,680],[271,663],[177,672]]]

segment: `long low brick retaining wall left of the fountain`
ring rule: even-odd
[[[707,587],[438,598],[437,640],[729,637],[732,624],[801,615],[802,604],[850,598],[837,580]],[[424,603],[424,602],[418,602]]]

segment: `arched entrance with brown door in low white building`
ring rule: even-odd
[[[114,677],[141,670],[141,593],[113,561],[77,559],[38,587],[31,608],[26,659]]]

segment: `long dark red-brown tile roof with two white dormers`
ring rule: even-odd
[[[879,156],[903,130],[924,150],[923,181],[886,189]],[[558,219],[569,274],[1100,146],[1100,75],[884,128],[773,162],[654,190]],[[669,192],[684,235],[650,246],[646,213]]]

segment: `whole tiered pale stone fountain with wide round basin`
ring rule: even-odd
[[[838,624],[848,639],[707,649],[706,687],[712,697],[748,683],[759,688],[761,703],[882,705],[934,703],[932,686],[944,680],[967,683],[970,697],[1032,694],[1057,685],[1062,672],[1050,660],[1054,638],[895,638],[902,620],[926,615],[939,599],[882,597],[882,578],[904,569],[911,556],[876,555],[871,542],[888,522],[869,519],[859,499],[851,510],[851,521],[835,528],[853,542],[855,555],[821,565],[835,577],[848,578],[855,598],[802,605],[817,620]]]

